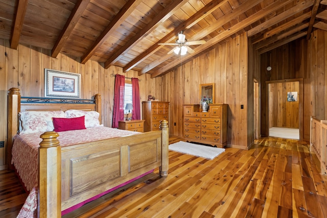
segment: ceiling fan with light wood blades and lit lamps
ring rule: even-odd
[[[185,55],[186,52],[189,52],[190,54],[193,54],[195,51],[191,49],[189,45],[198,45],[198,44],[204,44],[204,40],[198,40],[198,41],[190,41],[185,39],[185,35],[183,34],[183,31],[180,31],[178,33],[178,39],[176,39],[175,43],[158,43],[159,45],[176,45],[174,49],[172,49],[168,54],[172,54],[175,52],[176,55]]]

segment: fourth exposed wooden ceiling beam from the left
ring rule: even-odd
[[[126,52],[128,52],[132,46],[141,41],[148,33],[156,29],[161,22],[167,20],[171,15],[173,15],[179,8],[181,8],[185,3],[188,3],[189,0],[178,0],[173,1],[168,7],[160,11],[160,13],[155,16],[155,18],[148,23],[147,28],[143,28],[136,35],[134,35],[128,42],[121,47],[113,56],[111,56],[104,64],[105,68],[109,68],[116,61],[118,61]]]

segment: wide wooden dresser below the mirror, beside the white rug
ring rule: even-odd
[[[208,112],[200,105],[183,105],[183,136],[187,141],[223,148],[227,145],[227,105],[209,104]]]

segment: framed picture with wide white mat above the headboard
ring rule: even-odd
[[[45,68],[44,80],[45,97],[80,98],[80,74]]]

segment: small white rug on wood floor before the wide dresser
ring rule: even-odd
[[[201,144],[193,144],[189,142],[179,141],[169,145],[169,150],[180,152],[183,154],[190,154],[206,159],[214,159],[225,151],[222,148],[215,148],[209,146],[201,146]]]

